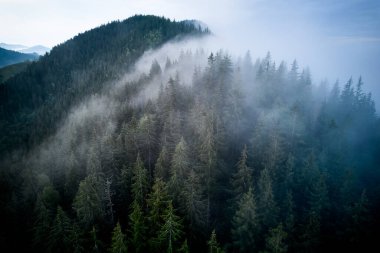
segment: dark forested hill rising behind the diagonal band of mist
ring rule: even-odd
[[[188,22],[133,16],[84,32],[0,84],[0,155],[54,133],[70,108],[124,74],[144,51],[207,33]]]

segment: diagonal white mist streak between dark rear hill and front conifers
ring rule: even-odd
[[[87,156],[94,138],[101,145],[107,145],[108,138],[120,128],[117,118],[123,110],[143,107],[148,101],[156,100],[160,87],[167,86],[171,78],[179,79],[181,85],[191,86],[194,70],[207,65],[211,48],[204,46],[208,44],[210,39],[207,38],[187,39],[145,52],[120,80],[72,108],[57,133],[30,152],[28,163],[34,168],[66,168],[72,152],[78,157]],[[143,88],[125,97],[125,92],[135,86]]]

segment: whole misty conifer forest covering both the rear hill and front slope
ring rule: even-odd
[[[186,48],[208,36],[134,16],[0,85],[2,252],[376,245],[380,119],[362,78]]]

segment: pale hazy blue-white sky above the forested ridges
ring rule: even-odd
[[[380,103],[379,0],[0,0],[0,42],[52,47],[134,14],[202,20],[232,53],[297,58],[315,81],[362,75]]]

